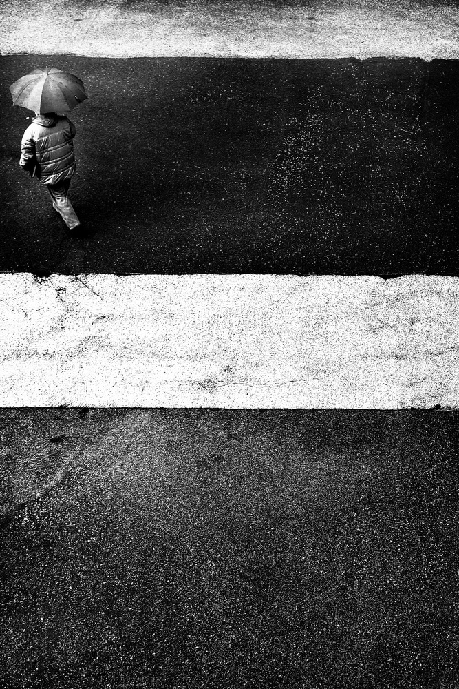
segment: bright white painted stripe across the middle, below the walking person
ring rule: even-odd
[[[459,403],[459,278],[0,275],[1,406]]]

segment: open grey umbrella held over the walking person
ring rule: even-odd
[[[13,105],[34,112],[69,112],[87,99],[83,81],[55,67],[36,68],[15,81],[10,91]]]

